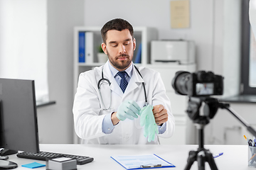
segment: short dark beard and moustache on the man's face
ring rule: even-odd
[[[116,69],[119,69],[119,70],[126,69],[132,63],[132,60],[130,60],[130,56],[127,54],[122,54],[122,55],[118,55],[116,57],[112,57],[112,56],[110,56],[110,53],[107,52],[107,56],[110,60],[110,63],[112,64],[112,66],[114,66]],[[119,61],[119,60],[117,60],[119,57],[127,57],[128,60]],[[133,57],[133,53],[132,53],[132,57]]]

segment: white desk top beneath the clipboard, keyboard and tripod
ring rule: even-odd
[[[133,154],[157,154],[159,157],[174,164],[175,168],[164,168],[180,170],[186,166],[188,152],[196,150],[198,145],[40,145],[41,151],[61,152],[65,154],[80,154],[93,157],[94,161],[89,164],[78,165],[78,169],[124,169],[122,166],[114,162],[110,156],[114,155],[133,155]],[[247,166],[247,145],[206,145],[206,149],[210,149],[213,154],[224,152],[223,156],[215,159],[218,169],[250,169]],[[22,164],[38,162],[45,164],[43,161],[32,159],[21,159],[16,154],[9,156],[9,160],[18,164],[18,169],[28,170],[21,167]],[[38,168],[38,170],[46,169],[46,167]],[[198,169],[197,162],[191,166],[192,169]],[[210,169],[206,163],[206,169]]]

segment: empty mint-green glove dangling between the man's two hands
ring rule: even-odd
[[[155,135],[159,134],[158,127],[156,125],[156,120],[154,119],[153,106],[148,105],[139,111],[141,115],[140,124],[144,126],[144,137],[148,137],[148,141],[151,142],[154,140]]]

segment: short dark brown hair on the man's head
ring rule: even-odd
[[[132,28],[132,25],[130,23],[128,23],[128,21],[125,21],[124,19],[121,19],[121,18],[116,18],[116,19],[112,19],[111,21],[108,21],[107,23],[105,23],[105,25],[101,29],[101,35],[102,35],[103,42],[106,44],[108,30],[121,31],[121,30],[125,30],[125,29],[129,30],[129,32],[133,38],[134,30]]]

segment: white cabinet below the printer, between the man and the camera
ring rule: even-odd
[[[171,101],[171,111],[176,120],[176,130],[174,135],[170,138],[159,137],[160,144],[187,144],[189,141],[187,137],[189,136],[190,132],[193,132],[191,128],[195,127],[191,125],[187,118],[188,115],[186,115],[186,108],[188,104],[187,96],[175,94],[175,91],[171,86],[171,81],[174,79],[174,76],[178,71],[195,72],[196,64],[149,64],[146,67],[154,69],[161,74],[161,78],[164,81],[164,86],[166,87],[166,94]]]

